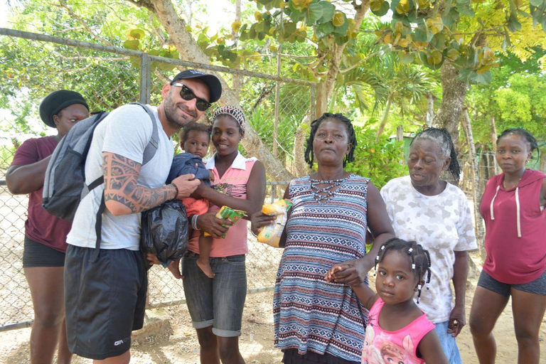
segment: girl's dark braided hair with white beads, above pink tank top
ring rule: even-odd
[[[387,240],[384,245],[382,245],[381,249],[379,250],[378,256],[375,257],[375,265],[373,267],[374,276],[376,275],[378,264],[380,264],[380,262],[385,259],[385,255],[387,255],[387,252],[403,252],[412,259],[412,271],[415,273],[417,281],[419,282],[419,284],[417,284],[417,291],[419,292],[419,294],[417,294],[417,303],[419,303],[422,289],[420,282],[424,278],[424,274],[427,274],[427,280],[425,282],[427,284],[427,289],[429,289],[430,276],[432,274],[430,270],[429,251],[423,249],[423,247],[417,244],[417,242],[407,242],[406,240],[393,237],[392,239]]]

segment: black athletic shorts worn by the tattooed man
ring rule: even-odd
[[[68,245],[65,263],[65,311],[68,348],[94,360],[122,355],[131,347],[131,331],[142,328],[148,276],[141,252]]]

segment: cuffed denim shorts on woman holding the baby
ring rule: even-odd
[[[214,278],[197,265],[199,255],[187,252],[183,259],[183,286],[194,328],[213,326],[216,336],[241,336],[242,309],[247,296],[245,255],[211,257]]]

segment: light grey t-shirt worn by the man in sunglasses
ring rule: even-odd
[[[171,169],[174,148],[164,132],[157,108],[148,107],[154,114],[159,134],[159,146],[148,163],[141,167],[138,184],[147,188],[164,185]],[[97,126],[85,163],[85,183],[102,176],[102,152],[119,154],[142,163],[144,149],[150,141],[152,124],[146,111],[139,105],[125,105],[108,114]],[[95,216],[105,186],[98,186],[82,199],[77,208],[67,242],[78,247],[95,247]],[[140,213],[114,216],[105,210],[102,214],[102,249],[139,250]]]

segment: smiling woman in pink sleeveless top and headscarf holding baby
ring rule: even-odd
[[[216,153],[205,166],[214,173],[214,182],[212,188],[201,183],[192,195],[207,199],[210,208],[208,213],[191,217],[198,229],[193,231],[188,253],[183,258],[183,286],[199,339],[200,362],[221,360],[238,364],[244,363],[239,352],[239,336],[247,293],[247,220],[232,225],[216,218],[215,214],[223,205],[246,211],[245,219],[260,210],[265,197],[265,168],[262,162],[247,159],[238,151],[245,135],[242,110],[219,107],[212,119],[211,139]],[[209,259],[212,278],[197,265],[198,240],[203,231],[213,236]],[[178,267],[171,272],[175,277],[182,277]]]

